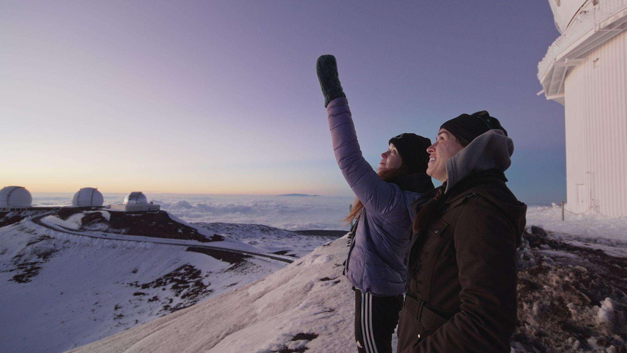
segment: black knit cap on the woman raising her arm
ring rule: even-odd
[[[392,137],[388,144],[393,144],[403,159],[403,166],[409,174],[424,173],[429,162],[428,147],[431,140],[411,132]]]

